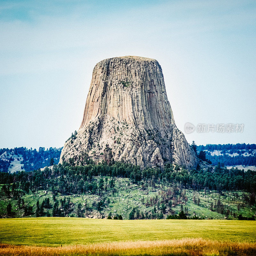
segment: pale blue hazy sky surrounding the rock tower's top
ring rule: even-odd
[[[40,3],[41,2],[41,3]],[[0,148],[62,147],[100,60],[158,60],[177,127],[244,124],[189,143],[256,143],[256,2],[1,1]]]

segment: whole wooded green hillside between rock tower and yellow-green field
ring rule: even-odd
[[[2,217],[66,216],[123,219],[256,216],[256,172],[226,169],[164,169],[87,159],[43,171],[0,172]],[[37,203],[38,200],[38,203]],[[11,204],[12,212],[6,212]],[[183,213],[182,213],[183,211]],[[177,216],[177,214],[180,214]],[[239,216],[241,214],[241,216]]]

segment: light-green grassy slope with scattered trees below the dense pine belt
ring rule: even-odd
[[[100,184],[100,179],[100,177],[96,177],[94,184]],[[234,217],[235,212],[237,213],[236,215],[242,214],[242,216],[249,217],[256,213],[255,206],[244,204],[243,208],[244,194],[241,191],[237,192],[237,203],[233,200],[233,203],[230,204],[229,207],[228,201],[231,197],[236,198],[236,194],[229,195],[229,193],[225,193],[221,195],[216,191],[209,191],[208,203],[208,194],[206,194],[205,199],[204,191],[198,192],[192,189],[186,190],[185,197],[178,197],[178,200],[169,200],[168,204],[163,205],[163,203],[160,204],[160,202],[163,201],[161,196],[162,193],[164,196],[164,190],[162,190],[160,186],[158,187],[156,185],[155,188],[149,187],[148,191],[143,191],[141,185],[132,184],[132,182],[127,178],[115,178],[113,179],[113,182],[115,183],[113,189],[116,189],[116,191],[117,189],[121,189],[122,193],[118,190],[118,193],[116,192],[116,194],[113,195],[113,190],[109,190],[107,193],[104,192],[104,196],[99,196],[97,194],[91,195],[89,193],[87,195],[76,194],[63,196],[60,194],[52,195],[51,192],[47,192],[45,190],[38,190],[35,192],[29,192],[22,196],[22,199],[17,200],[8,198],[7,196],[2,196],[0,201],[0,214],[2,216],[6,216],[7,205],[9,202],[12,204],[12,217],[35,217],[36,212],[39,212],[39,216],[87,216],[90,218],[94,216],[94,218],[107,218],[111,213],[110,215],[112,218],[116,215],[118,215],[118,217],[121,215],[122,218],[129,219],[129,215],[134,208],[135,213],[133,219],[160,218],[163,210],[164,218],[167,218],[167,215],[175,218],[176,214],[179,214],[181,211],[181,206],[183,207],[184,205],[184,212],[187,217],[224,219],[226,214],[221,214],[221,211],[224,211],[225,208],[222,209],[220,207],[220,202],[223,207],[226,207],[226,210],[228,208],[230,213],[232,212],[232,217],[231,215],[228,216],[229,219],[236,219],[238,217]],[[166,188],[166,190],[167,189],[168,188]],[[185,190],[183,190],[182,194],[184,193]],[[158,194],[160,194],[160,197],[158,197]],[[157,201],[156,197],[158,198]],[[37,200],[40,205],[39,210],[37,210]],[[185,200],[187,200],[187,202],[185,202]],[[81,204],[80,209],[78,209],[78,204]],[[238,205],[239,212],[237,209]],[[152,210],[154,212],[153,214]]]

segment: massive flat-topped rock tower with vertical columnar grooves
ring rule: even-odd
[[[197,163],[175,125],[161,66],[153,59],[125,56],[96,64],[75,135],[66,141],[60,163],[70,157],[79,163],[84,153],[97,162],[114,158],[142,168]]]

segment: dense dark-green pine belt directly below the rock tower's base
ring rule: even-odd
[[[95,177],[99,176],[109,177],[107,185],[103,178],[96,182]],[[163,169],[141,170],[139,166],[121,162],[73,165],[71,161],[71,164],[64,162],[54,165],[52,170],[46,167],[43,171],[22,171],[12,174],[0,172],[0,180],[6,191],[13,187],[26,192],[50,189],[61,195],[101,194],[106,186],[114,188],[112,177],[130,178],[133,183],[142,182],[144,187],[152,187],[155,183],[165,186],[175,183],[198,191],[207,187],[217,191],[242,190],[256,193],[256,172],[244,172],[237,168],[227,169],[220,163],[207,169],[199,167],[188,170],[179,165],[166,164]]]

